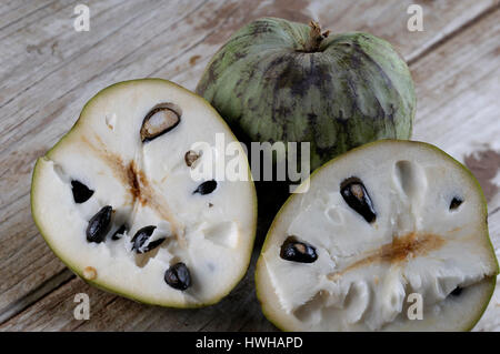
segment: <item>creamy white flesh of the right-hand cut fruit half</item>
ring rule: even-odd
[[[371,198],[372,223],[340,194],[352,176]],[[450,210],[453,198],[463,202]],[[309,191],[280,211],[258,262],[258,296],[284,330],[469,328],[498,273],[486,218],[479,184],[437,148],[381,141],[356,149],[318,170]],[[318,260],[280,257],[290,235],[314,246]],[[408,316],[418,310],[411,293],[421,295],[422,320]]]

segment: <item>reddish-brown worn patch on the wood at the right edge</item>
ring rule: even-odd
[[[500,153],[493,150],[471,153],[466,156],[464,162],[481,184],[487,201],[491,201],[499,191],[492,180],[500,169]]]

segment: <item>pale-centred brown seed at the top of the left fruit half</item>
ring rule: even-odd
[[[146,114],[141,127],[141,141],[151,141],[180,123],[180,109],[172,103],[160,103]]]

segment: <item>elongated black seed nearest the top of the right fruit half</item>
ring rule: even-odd
[[[340,194],[350,208],[364,218],[367,222],[373,222],[377,214],[364,184],[358,178],[350,178],[340,184]]]

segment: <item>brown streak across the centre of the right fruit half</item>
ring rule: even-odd
[[[382,245],[379,250],[370,252],[366,257],[348,265],[342,271],[329,274],[328,277],[330,280],[338,280],[349,271],[372,263],[403,263],[410,259],[438,250],[443,244],[444,239],[439,235],[412,232],[401,237],[394,237],[392,243]]]

